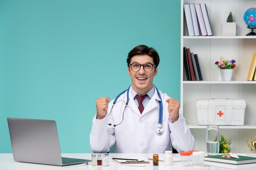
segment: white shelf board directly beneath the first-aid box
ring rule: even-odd
[[[190,129],[206,129],[207,125],[187,124]],[[256,129],[256,124],[244,124],[244,125],[219,125],[220,129]]]

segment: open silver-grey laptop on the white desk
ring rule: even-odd
[[[88,159],[61,157],[56,121],[8,117],[14,161],[55,166],[88,163]]]

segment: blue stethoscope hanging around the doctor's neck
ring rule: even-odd
[[[130,86],[131,86],[131,85],[130,85]],[[122,94],[124,94],[124,93],[127,91],[127,96],[126,96],[127,99],[126,99],[126,104],[125,104],[124,111],[123,111],[122,121],[121,121],[119,124],[114,125],[114,127],[120,125],[120,124],[124,121],[124,112],[125,112],[125,110],[126,110],[126,107],[128,106],[128,102],[129,102],[130,86],[129,86],[129,88],[128,88],[127,90],[125,90],[125,91],[121,92],[119,95],[117,95],[117,97],[115,98],[115,100],[114,100],[114,102],[113,102],[112,108],[110,109],[110,113],[111,113],[113,107],[115,106],[115,104],[116,104],[116,102],[117,102],[117,99],[118,99]],[[155,85],[154,85],[154,86],[155,86]],[[156,88],[156,86],[155,86],[155,88]],[[157,88],[156,88],[156,90],[157,90]],[[161,95],[160,95],[160,93],[159,93],[158,90],[157,90],[157,95],[158,95],[158,97],[160,98],[160,100],[159,100],[158,128],[157,128],[157,130],[156,130],[156,133],[157,133],[157,135],[163,135],[163,133],[164,133],[164,129],[162,128],[162,121],[163,121],[163,104],[162,104],[162,97],[161,97]],[[110,115],[110,113],[108,114],[108,116]],[[108,125],[111,126],[111,124],[108,124]]]

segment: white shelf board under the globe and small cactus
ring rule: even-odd
[[[183,36],[183,39],[255,39],[256,36]]]

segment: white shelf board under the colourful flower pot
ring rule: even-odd
[[[183,84],[256,84],[256,81],[183,81]]]

